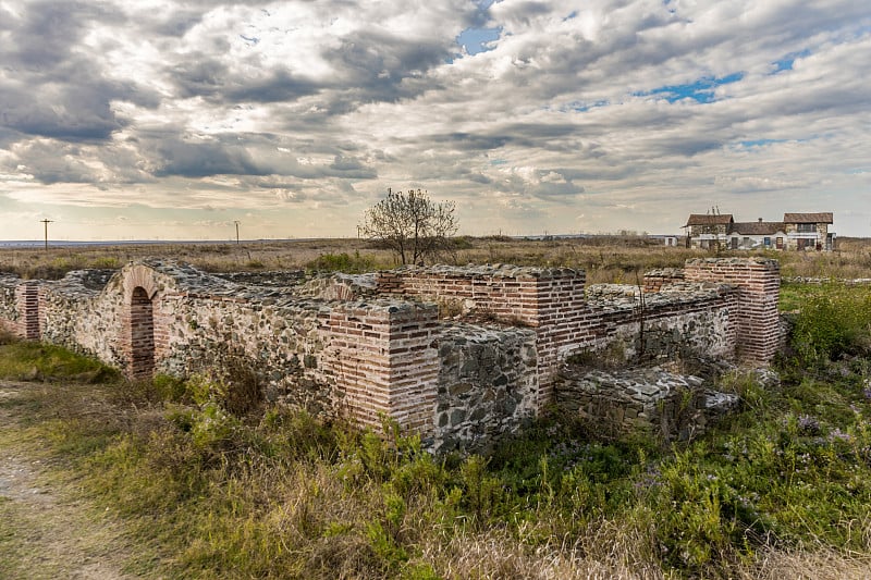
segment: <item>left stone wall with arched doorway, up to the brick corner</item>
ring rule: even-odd
[[[44,340],[134,377],[246,365],[272,400],[375,428],[390,418],[432,431],[433,305],[299,298],[163,261],[125,267],[99,292],[83,281],[34,286]]]

